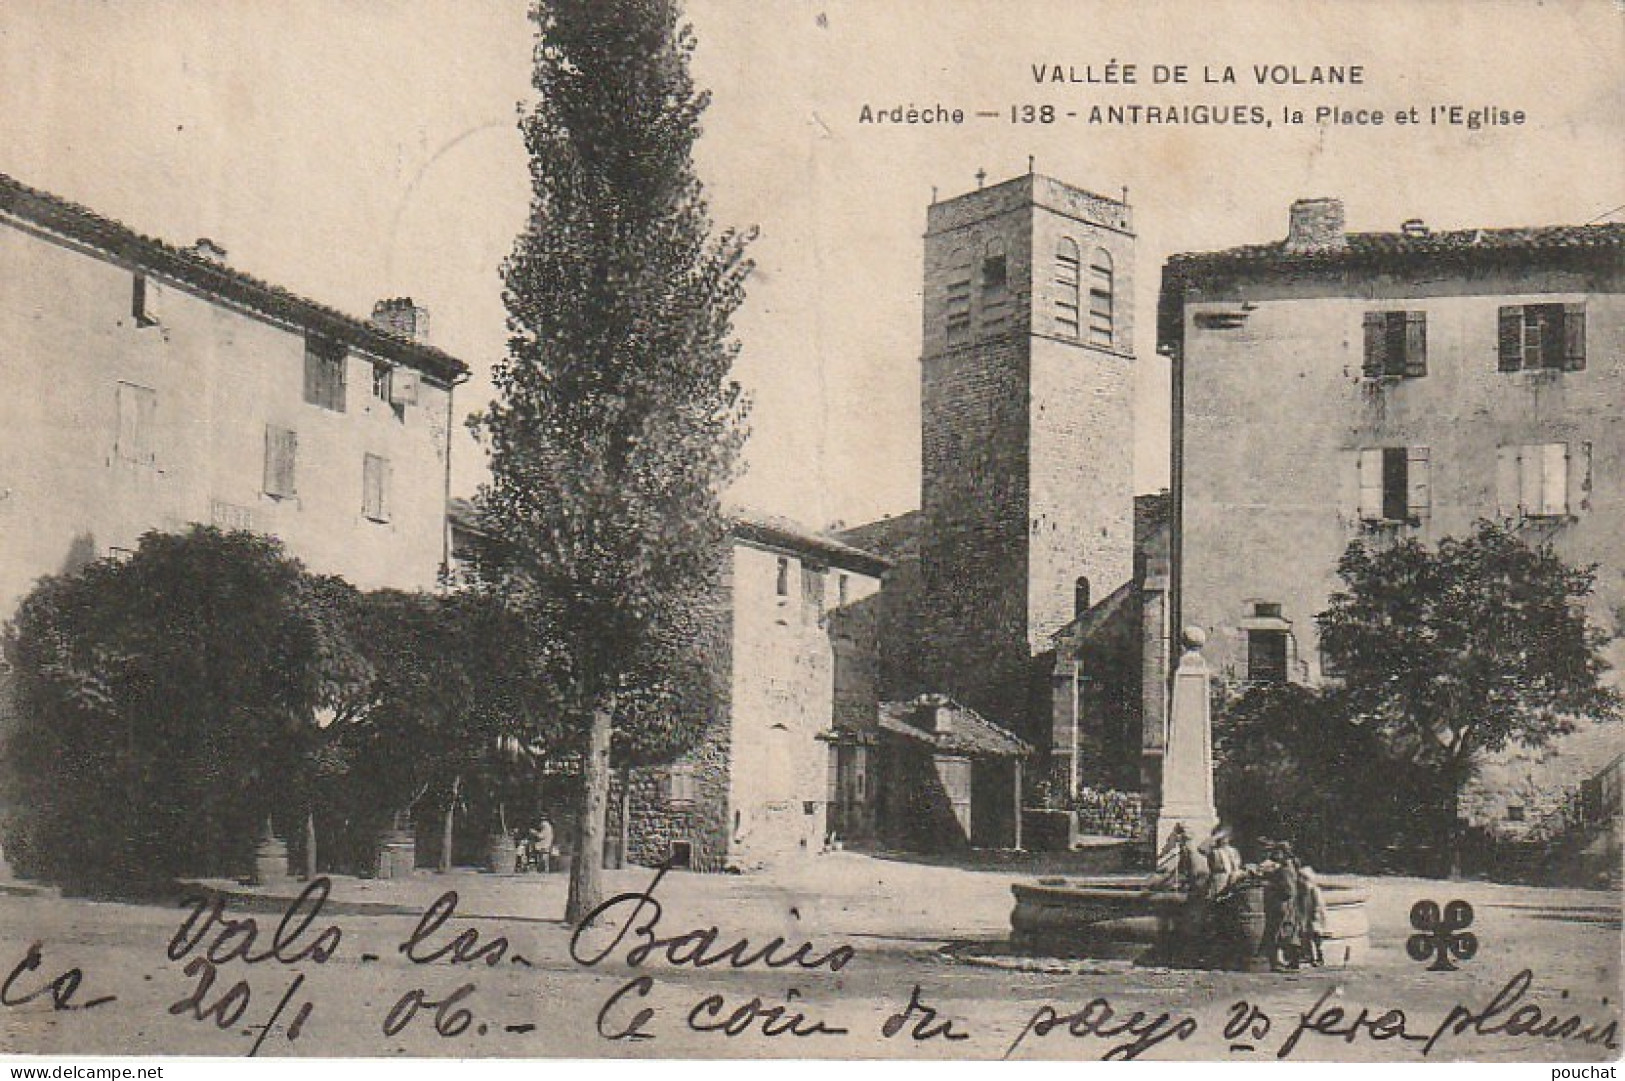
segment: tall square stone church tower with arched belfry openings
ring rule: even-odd
[[[925,234],[925,671],[1050,745],[1034,658],[1133,574],[1134,232],[1029,172],[933,203]]]

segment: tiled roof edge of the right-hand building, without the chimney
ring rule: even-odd
[[[1516,229],[1450,229],[1441,232],[1350,232],[1339,247],[1289,250],[1285,241],[1245,244],[1219,252],[1168,257],[1168,268],[1256,267],[1266,263],[1318,265],[1440,257],[1500,260],[1536,252],[1592,252],[1625,249],[1625,223],[1594,226],[1534,226]]]

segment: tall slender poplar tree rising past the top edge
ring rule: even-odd
[[[673,0],[538,0],[523,117],[530,223],[504,263],[512,335],[478,418],[481,574],[562,642],[585,736],[567,918],[598,904],[609,753],[707,595],[744,439],[728,372],[746,237],[712,236],[691,151],[707,94]],[[660,723],[660,710],[639,710]]]

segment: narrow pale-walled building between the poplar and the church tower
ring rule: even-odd
[[[715,701],[699,745],[630,771],[634,863],[751,870],[824,849],[835,818],[873,826],[869,756],[837,723],[878,722],[873,603],[886,561],[783,519],[734,519],[713,606]],[[616,810],[611,831],[619,831]]]

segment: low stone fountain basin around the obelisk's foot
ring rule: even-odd
[[[1321,944],[1326,964],[1358,964],[1370,948],[1363,889],[1321,883],[1328,933]],[[1152,948],[1167,949],[1188,923],[1190,901],[1180,891],[1150,889],[1144,878],[1097,876],[1038,879],[1011,886],[1011,943],[1029,953],[1060,957],[1141,959]],[[1243,915],[1263,933],[1263,888],[1243,891]]]

